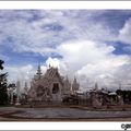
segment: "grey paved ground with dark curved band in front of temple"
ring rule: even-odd
[[[92,111],[76,108],[0,108],[0,120],[123,120],[131,111]]]

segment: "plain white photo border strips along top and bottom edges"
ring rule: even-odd
[[[0,10],[131,10],[131,1],[0,1]],[[0,130],[123,130],[121,122],[0,122]]]

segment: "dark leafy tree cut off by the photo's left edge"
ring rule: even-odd
[[[0,60],[0,70],[3,70],[4,61]],[[8,73],[0,72],[0,105],[8,104],[8,81],[7,81]]]

